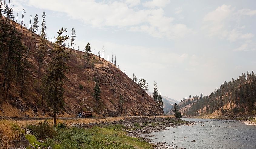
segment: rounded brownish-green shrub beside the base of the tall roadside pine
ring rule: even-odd
[[[28,129],[32,130],[35,137],[40,140],[45,140],[46,138],[54,138],[57,135],[55,129],[49,124],[48,121],[38,122],[35,125],[27,125]]]

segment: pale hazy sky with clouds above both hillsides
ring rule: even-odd
[[[254,0],[11,0],[15,19],[46,13],[49,39],[75,28],[75,49],[91,44],[132,78],[154,81],[161,95],[209,95],[224,81],[256,69]],[[18,13],[17,13],[18,12]],[[17,15],[18,14],[18,15]],[[39,33],[38,31],[38,33]],[[67,41],[67,43],[69,43]],[[102,52],[101,52],[102,53]]]

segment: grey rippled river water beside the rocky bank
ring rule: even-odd
[[[240,121],[182,118],[201,121],[191,126],[168,127],[168,130],[152,132],[145,137],[151,142],[166,142],[186,149],[256,149],[256,126]],[[186,138],[187,137],[187,138]],[[191,142],[195,140],[195,142]]]

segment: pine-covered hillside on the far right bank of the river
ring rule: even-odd
[[[256,115],[255,73],[242,73],[236,80],[225,81],[208,96],[194,96],[179,103],[182,115]],[[169,113],[170,114],[170,113]]]

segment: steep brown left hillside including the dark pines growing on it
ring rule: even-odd
[[[12,21],[12,8],[5,11],[0,14],[0,116],[53,116],[42,83],[56,57],[56,44],[46,40],[43,30],[39,36]],[[64,59],[68,73],[63,84],[65,106],[59,117],[75,117],[81,111],[93,111],[93,116],[163,115],[161,107],[146,93],[141,95],[141,87],[116,65],[91,54],[85,67],[85,53],[70,50],[65,48],[70,58]],[[101,90],[97,107],[96,83]]]

